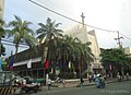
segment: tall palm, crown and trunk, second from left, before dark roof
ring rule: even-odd
[[[58,26],[61,23],[57,23],[56,21],[51,21],[49,17],[47,19],[46,24],[43,23],[38,23],[38,25],[40,26],[40,28],[38,28],[36,31],[36,34],[38,35],[37,38],[39,39],[40,44],[43,43],[43,40],[45,40],[46,46],[47,46],[47,60],[50,58],[49,55],[51,47],[57,46],[57,37],[61,37],[62,36],[62,29],[58,29]],[[53,45],[53,46],[52,46]]]

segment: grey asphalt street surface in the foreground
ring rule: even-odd
[[[116,82],[107,84],[105,88],[93,86],[51,88],[51,91],[40,91],[31,95],[131,95],[131,81]]]

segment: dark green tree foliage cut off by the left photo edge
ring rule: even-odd
[[[5,31],[4,31],[4,28],[3,28],[3,25],[5,24],[5,22],[2,20],[2,19],[0,19],[0,57],[1,57],[1,55],[4,55],[3,52],[4,52],[4,47],[2,46],[2,44],[1,44],[1,39],[4,37],[4,35],[5,35]]]

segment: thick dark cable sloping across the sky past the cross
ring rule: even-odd
[[[32,3],[34,3],[34,4],[36,4],[36,5],[40,7],[40,8],[44,8],[44,9],[46,9],[46,10],[48,10],[48,11],[55,13],[55,14],[58,14],[58,15],[64,17],[64,19],[68,19],[68,20],[73,21],[73,22],[75,22],[75,23],[82,24],[81,22],[79,22],[79,21],[76,21],[76,20],[73,20],[73,19],[71,19],[71,17],[69,17],[69,16],[66,16],[66,15],[59,13],[59,12],[56,12],[56,11],[53,11],[53,10],[47,8],[47,7],[44,7],[44,5],[41,5],[41,4],[39,4],[39,3],[35,2],[35,1],[33,1],[33,0],[28,0],[28,1],[31,1]],[[100,31],[117,33],[117,31],[104,29],[104,28],[99,28],[99,27],[96,27],[96,26],[87,25],[87,24],[84,24],[84,25],[86,25],[86,26],[88,26],[88,27],[96,28],[96,29],[100,29]]]

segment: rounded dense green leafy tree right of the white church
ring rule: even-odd
[[[127,66],[130,60],[130,58],[124,55],[124,51],[118,48],[105,49],[100,54],[100,62],[107,70],[109,70],[109,66],[111,66],[111,68],[116,67],[117,70],[121,71],[123,66]]]

